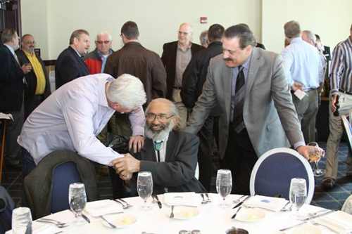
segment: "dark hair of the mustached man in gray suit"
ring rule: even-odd
[[[224,37],[227,39],[238,37],[239,47],[241,49],[244,49],[247,46],[256,47],[257,45],[256,37],[254,37],[254,34],[249,29],[248,25],[245,24],[234,25],[227,28],[227,30],[225,30]]]

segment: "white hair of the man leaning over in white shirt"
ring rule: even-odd
[[[131,74],[122,74],[111,82],[106,97],[128,110],[146,103],[146,92],[141,80]]]

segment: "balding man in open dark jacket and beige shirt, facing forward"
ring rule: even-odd
[[[168,90],[166,92],[166,98],[175,103],[180,113],[180,129],[186,126],[188,112],[180,96],[182,74],[194,53],[204,48],[198,44],[191,43],[192,37],[192,26],[188,23],[183,23],[180,25],[178,31],[178,41],[164,44],[163,55],[161,56],[167,77],[166,83]]]

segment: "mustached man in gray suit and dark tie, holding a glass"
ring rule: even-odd
[[[281,56],[255,48],[256,39],[244,25],[229,27],[222,41],[223,53],[210,60],[185,131],[196,134],[218,101],[222,167],[232,171],[232,193],[249,194],[249,178],[260,155],[294,146],[308,159],[308,148]]]

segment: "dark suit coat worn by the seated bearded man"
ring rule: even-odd
[[[166,145],[165,162],[156,162],[153,141],[146,139],[141,152],[133,154],[141,160],[140,171],[151,171],[153,194],[168,192],[206,193],[194,177],[197,164],[199,138],[182,131],[171,131]],[[137,195],[137,173],[131,181],[130,195]]]

